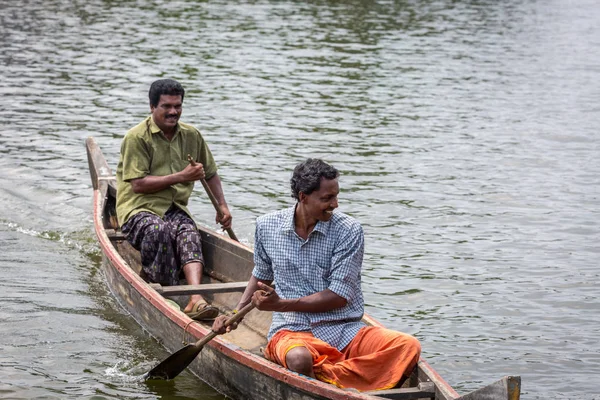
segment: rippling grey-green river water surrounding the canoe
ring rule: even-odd
[[[0,397],[222,399],[104,284],[84,141],[116,167],[158,78],[234,231],[338,167],[367,311],[459,393],[600,399],[600,7],[593,0],[0,3]],[[214,218],[198,185],[191,210]]]

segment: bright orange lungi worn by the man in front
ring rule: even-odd
[[[318,380],[360,391],[393,388],[410,375],[421,354],[421,344],[413,336],[367,326],[341,352],[310,332],[281,330],[267,344],[265,356],[287,368],[288,351],[299,346],[312,354]]]

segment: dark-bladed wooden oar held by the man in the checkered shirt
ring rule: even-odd
[[[248,303],[244,308],[234,314],[231,318],[225,321],[225,326],[229,326],[235,322],[240,321],[246,314],[254,309],[254,304]],[[144,379],[173,379],[181,373],[200,352],[204,345],[210,342],[218,334],[211,331],[208,335],[198,340],[194,344],[188,344],[187,346],[177,350],[177,352],[170,355],[166,360],[152,368],[150,372],[144,375]]]

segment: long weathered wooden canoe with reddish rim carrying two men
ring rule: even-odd
[[[111,292],[120,304],[169,352],[210,333],[210,325],[193,322],[170,307],[165,298],[185,304],[185,296],[202,293],[222,312],[237,304],[253,268],[252,249],[214,231],[199,227],[203,240],[203,284],[163,287],[148,283],[141,272],[139,253],[120,233],[115,212],[116,179],[100,148],[86,141],[94,189],[94,227],[103,254],[103,270]],[[364,321],[380,325],[368,315]],[[189,369],[207,384],[232,399],[490,399],[518,400],[520,377],[507,376],[466,396],[459,394],[423,359],[402,388],[355,392],[337,388],[291,372],[262,356],[271,323],[268,312],[253,310],[239,328],[210,341]]]

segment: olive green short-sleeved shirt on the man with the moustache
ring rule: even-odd
[[[133,127],[121,143],[117,167],[117,218],[122,226],[141,211],[163,217],[175,204],[185,211],[194,182],[178,183],[156,193],[134,193],[130,181],[147,175],[165,176],[182,171],[188,164],[187,155],[202,163],[206,179],[217,173],[217,165],[200,132],[191,125],[178,123],[171,141],[149,116]]]

